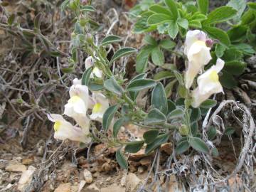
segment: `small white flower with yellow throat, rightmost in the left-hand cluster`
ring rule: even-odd
[[[90,119],[102,122],[103,114],[109,107],[109,101],[105,95],[102,95],[102,93],[99,92],[94,93],[93,97],[95,100],[95,105],[92,108]]]

